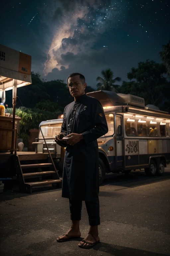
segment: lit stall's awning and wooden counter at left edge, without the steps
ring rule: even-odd
[[[12,90],[13,104],[13,115],[0,106],[0,152],[16,152],[21,120],[15,116],[17,88],[31,83],[31,56],[0,45],[0,100],[5,103],[5,92]]]

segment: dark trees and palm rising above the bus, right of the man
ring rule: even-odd
[[[124,94],[133,94],[145,99],[145,105],[153,104],[161,110],[170,112],[170,41],[162,46],[160,57],[163,63],[152,60],[139,62],[137,68],[131,68],[127,74],[128,80],[122,85],[115,82],[121,81],[120,77],[114,78],[111,69],[102,70],[102,77],[98,77],[98,89],[114,91]]]

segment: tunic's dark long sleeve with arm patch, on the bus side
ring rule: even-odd
[[[86,144],[89,144],[108,132],[108,125],[102,105],[98,100],[92,104],[92,129],[83,132],[82,136]]]

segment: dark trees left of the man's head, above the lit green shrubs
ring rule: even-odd
[[[91,91],[94,91],[94,89],[87,86],[86,92]],[[45,106],[48,106],[49,111],[54,107],[63,110],[71,101],[72,96],[69,93],[68,86],[62,80],[42,81],[40,74],[32,72],[32,84],[17,89],[16,107],[44,109]],[[12,91],[7,91],[5,104],[12,107]]]

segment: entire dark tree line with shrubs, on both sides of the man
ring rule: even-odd
[[[161,110],[170,112],[170,41],[162,46],[159,53],[163,63],[152,60],[139,62],[137,68],[131,68],[127,74],[128,82],[114,77],[111,69],[102,70],[97,77],[97,90],[133,94],[145,99],[145,105],[153,104]],[[87,86],[86,93],[95,89]],[[44,81],[38,73],[32,72],[32,84],[17,89],[17,111],[22,117],[21,132],[29,133],[30,128],[38,128],[44,120],[57,119],[64,107],[73,98],[68,86],[62,80]],[[12,108],[12,90],[6,93],[8,108]],[[9,109],[9,112],[12,109]]]

